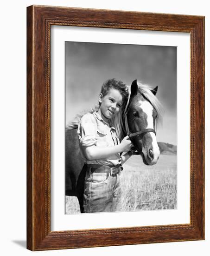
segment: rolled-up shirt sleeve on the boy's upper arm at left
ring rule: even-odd
[[[77,134],[81,146],[97,145],[97,123],[92,114],[83,115]]]

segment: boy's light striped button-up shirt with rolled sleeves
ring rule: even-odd
[[[83,115],[78,126],[78,137],[80,149],[87,164],[105,164],[115,166],[121,164],[120,153],[109,156],[106,159],[87,160],[84,154],[84,147],[95,145],[97,147],[112,147],[120,144],[120,140],[116,135],[114,127],[103,121],[98,113]]]

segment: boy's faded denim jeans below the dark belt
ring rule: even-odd
[[[121,176],[86,171],[84,213],[121,211]]]

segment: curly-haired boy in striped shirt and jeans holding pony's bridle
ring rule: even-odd
[[[85,158],[84,213],[121,210],[121,164],[127,161],[131,141],[121,142],[111,121],[127,100],[124,83],[110,79],[102,85],[99,110],[82,117],[78,137]]]

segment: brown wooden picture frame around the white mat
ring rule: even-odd
[[[51,231],[51,25],[190,33],[190,223]],[[27,249],[204,240],[204,17],[27,7]]]

